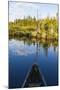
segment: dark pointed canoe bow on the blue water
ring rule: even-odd
[[[46,86],[46,82],[41,72],[39,71],[38,65],[34,64],[31,71],[28,73],[22,87],[40,87]]]

